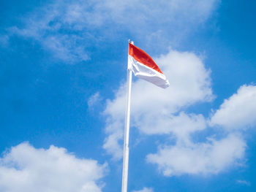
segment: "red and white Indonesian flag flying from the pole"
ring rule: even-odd
[[[153,83],[160,88],[167,88],[170,83],[153,59],[143,50],[129,43],[128,69],[136,77]]]

